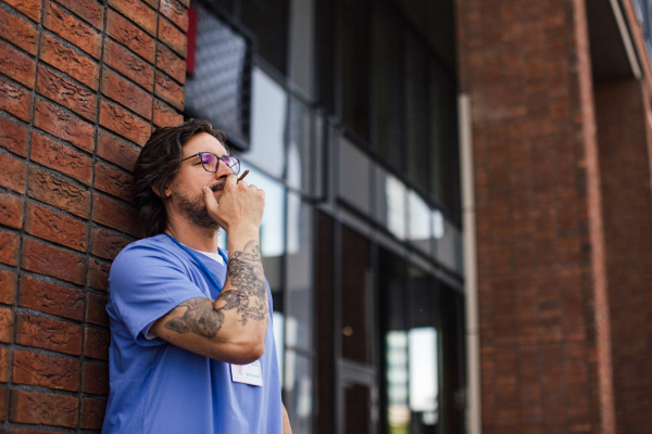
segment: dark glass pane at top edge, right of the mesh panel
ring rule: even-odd
[[[255,34],[260,56],[285,75],[288,0],[241,0],[240,20]]]

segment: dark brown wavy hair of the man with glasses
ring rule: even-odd
[[[226,145],[224,131],[213,129],[210,122],[189,119],[176,127],[158,128],[149,138],[134,167],[134,199],[140,210],[140,222],[146,237],[163,233],[167,213],[163,192],[172,178],[179,171],[183,148],[193,136],[208,132]]]

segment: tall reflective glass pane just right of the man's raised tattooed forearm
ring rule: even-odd
[[[312,348],[313,246],[312,208],[288,193],[288,248],[286,259],[286,345]]]

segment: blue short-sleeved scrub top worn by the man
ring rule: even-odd
[[[226,266],[200,253],[195,256],[224,285]],[[106,305],[111,392],[103,434],[281,433],[268,285],[269,324],[260,358],[262,387],[233,382],[229,363],[145,336],[152,322],[179,304],[217,297],[220,289],[197,259],[166,235],[131,243],[115,258]]]

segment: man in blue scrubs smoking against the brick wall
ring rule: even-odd
[[[290,433],[259,246],[264,192],[237,180],[225,139],[191,119],[154,131],[136,162],[148,238],[109,278],[102,433]]]

